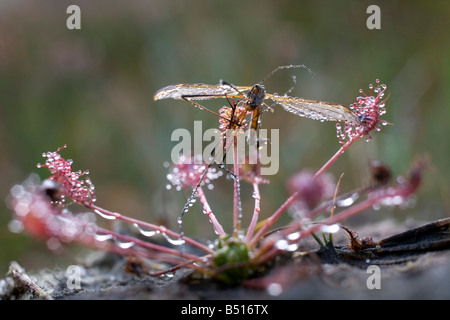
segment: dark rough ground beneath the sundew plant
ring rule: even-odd
[[[406,232],[392,222],[372,225],[349,247],[315,246],[281,257],[267,274],[282,284],[273,292],[261,288],[263,280],[227,287],[190,270],[162,277],[142,272],[139,263],[105,253],[79,265],[81,283],[69,289],[66,269],[28,272],[12,263],[11,274],[0,280],[3,299],[152,299],[152,300],[261,300],[261,299],[450,299],[450,219],[442,219]],[[371,230],[370,230],[371,229]],[[404,230],[404,228],[402,228]],[[375,231],[376,230],[376,231]],[[393,235],[377,237],[380,230]],[[375,239],[382,239],[376,241]],[[357,243],[361,247],[356,248]],[[150,262],[147,262],[147,264]],[[380,288],[369,289],[368,266],[380,269]],[[270,282],[269,281],[269,282]],[[267,283],[269,283],[267,282]]]

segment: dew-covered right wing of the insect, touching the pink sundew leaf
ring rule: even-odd
[[[286,111],[295,115],[322,121],[347,121],[359,125],[359,118],[350,109],[334,103],[284,97],[267,94],[266,98],[280,104]]]

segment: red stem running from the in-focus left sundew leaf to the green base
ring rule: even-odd
[[[148,223],[148,222],[143,222],[143,221],[140,221],[140,220],[137,220],[137,219],[133,219],[133,218],[124,216],[124,215],[122,215],[122,214],[120,214],[118,212],[112,212],[112,211],[103,209],[103,208],[101,208],[99,206],[94,205],[93,203],[86,202],[86,203],[84,203],[84,205],[87,208],[92,209],[94,211],[98,211],[98,212],[100,212],[100,213],[102,213],[102,214],[104,214],[106,216],[111,216],[111,217],[114,217],[115,219],[118,219],[118,220],[130,223],[130,224],[137,224],[140,227],[148,228],[148,229],[151,229],[151,230],[156,230],[156,231],[164,233],[164,234],[166,234],[166,235],[168,235],[168,236],[170,236],[172,238],[180,239],[180,235],[178,233],[173,232],[173,231],[167,229],[164,226],[157,226],[157,225],[154,225],[154,224],[151,224],[151,223]],[[201,244],[200,242],[197,242],[197,241],[195,241],[195,240],[193,240],[193,239],[191,239],[189,237],[183,237],[183,240],[186,243],[188,243],[188,244],[190,244],[190,245],[192,245],[192,246],[194,246],[196,248],[199,248],[199,249],[201,249],[201,250],[203,250],[203,251],[205,251],[207,253],[210,253],[210,254],[213,253],[212,249],[208,248],[204,244]]]

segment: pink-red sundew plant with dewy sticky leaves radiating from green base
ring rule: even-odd
[[[188,190],[191,194],[185,207],[180,208],[179,230],[170,230],[97,205],[89,172],[74,171],[72,160],[62,156],[66,148],[63,146],[44,153],[45,162],[38,164],[39,168],[49,170],[50,177],[40,182],[33,175],[11,189],[9,202],[14,218],[9,224],[10,229],[13,232],[25,231],[46,241],[48,248],[55,252],[70,243],[81,243],[126,257],[156,260],[167,266],[148,269],[152,276],[188,268],[227,285],[246,285],[255,283],[255,280],[264,284],[268,266],[273,265],[271,262],[298,250],[303,239],[334,233],[340,229],[342,221],[374,206],[405,206],[414,195],[421,181],[423,161],[415,162],[409,175],[397,177],[392,184],[383,174],[383,166],[375,163],[370,186],[357,187],[342,195],[339,194],[339,181],[335,183],[328,172],[353,143],[360,139],[370,142],[374,133],[388,124],[381,119],[387,110],[385,93],[386,86],[378,80],[369,86],[369,93],[360,90],[361,95],[356,102],[345,110],[348,114],[342,121],[336,119],[340,148],[316,169],[292,173],[287,182],[290,196],[266,219],[259,217],[264,206],[260,187],[266,187],[269,180],[261,176],[258,161],[255,164],[235,161],[231,168],[225,168],[224,165],[202,162],[196,158],[198,155],[184,155],[177,163],[168,166],[167,178],[173,189]],[[218,114],[218,128],[222,132],[223,150],[226,152],[236,151],[238,136],[246,127],[257,125],[255,113],[246,107],[247,99],[246,95],[228,99],[230,106]],[[253,118],[246,120],[250,114]],[[213,180],[224,176],[233,180],[229,195],[230,214],[227,216],[227,219],[233,219],[231,230],[222,226],[214,214],[214,205],[209,203],[204,192]],[[244,183],[253,188],[252,212],[242,212],[240,189]],[[215,239],[200,242],[184,233],[182,218],[196,201],[201,203],[203,214],[216,234]],[[84,209],[75,213],[74,205]],[[294,213],[289,215],[290,222],[275,229],[275,223],[287,214],[288,209],[294,209]],[[328,213],[326,218],[318,219],[324,213]],[[251,216],[249,225],[243,225],[243,215]],[[100,227],[98,218],[120,220],[129,224],[135,233],[122,234]],[[164,241],[153,241],[155,237],[163,237]]]

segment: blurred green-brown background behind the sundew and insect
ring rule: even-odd
[[[81,9],[81,30],[69,30],[66,9]],[[369,30],[366,9],[381,9],[381,29]],[[373,141],[358,142],[331,168],[345,172],[342,190],[367,183],[370,159],[402,174],[429,154],[416,205],[382,209],[367,221],[393,217],[432,220],[450,215],[450,3],[448,1],[22,1],[0,2],[0,275],[14,259],[27,268],[53,267],[45,244],[13,234],[7,224],[10,188],[37,169],[42,152],[63,144],[74,169],[90,170],[98,204],[146,221],[176,219],[185,194],[165,189],[165,161],[173,130],[217,126],[214,116],[184,101],[154,102],[174,83],[224,79],[252,85],[275,67],[266,83],[293,96],[350,105],[359,89],[379,78],[388,86],[384,127]],[[207,104],[218,110],[225,101]],[[318,169],[339,148],[334,123],[293,116],[280,107],[264,115],[265,128],[280,129],[280,170],[261,187],[262,217],[286,198],[286,179],[302,168]],[[210,204],[231,224],[232,184],[218,181]],[[243,187],[244,215],[251,208]],[[209,237],[199,207],[185,219],[190,235]]]

